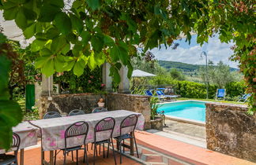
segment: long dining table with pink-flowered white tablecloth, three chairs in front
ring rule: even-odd
[[[115,129],[113,131],[113,138],[119,136],[120,131],[120,123],[122,119],[125,119],[126,116],[130,116],[132,114],[137,115],[137,130],[143,130],[145,119],[141,113],[137,112],[130,112],[126,110],[115,110],[109,112],[100,112],[100,113],[91,113],[85,114],[80,116],[66,116],[62,118],[53,118],[53,119],[39,119],[30,121],[33,126],[40,128],[41,131],[41,147],[42,147],[42,154],[41,154],[41,164],[45,162],[44,160],[44,151],[50,151],[50,164],[53,164],[54,161],[54,151],[57,149],[65,148],[65,130],[71,124],[85,121],[88,123],[88,135],[86,138],[86,144],[91,143],[94,141],[94,128],[96,123],[98,123],[101,119],[106,117],[113,117],[115,119]],[[131,130],[127,130],[131,131]],[[124,132],[125,133],[125,132]],[[128,132],[127,132],[128,133]],[[106,134],[105,131],[100,132],[97,135],[97,141],[105,140],[104,137]],[[73,147],[77,145],[83,145],[83,138],[78,136],[75,138],[69,138],[67,140],[67,147]],[[130,141],[130,152],[134,154],[134,141],[131,139]]]

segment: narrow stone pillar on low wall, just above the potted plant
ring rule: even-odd
[[[109,76],[111,65],[108,63],[103,64],[102,68],[102,81],[105,84],[105,90],[112,92],[112,78]]]

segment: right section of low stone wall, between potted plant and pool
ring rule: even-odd
[[[145,129],[150,129],[149,98],[134,94],[107,94],[107,109],[124,109],[141,113],[145,117]]]

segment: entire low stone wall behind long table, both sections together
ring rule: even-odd
[[[150,129],[150,97],[133,94],[59,94],[53,95],[52,101],[43,96],[40,97],[40,118],[51,111],[68,114],[73,109],[81,109],[91,113],[98,107],[100,97],[104,98],[108,111],[124,109],[141,113],[145,117],[145,129]]]

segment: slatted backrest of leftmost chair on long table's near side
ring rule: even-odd
[[[85,144],[87,134],[88,134],[88,123],[84,121],[73,123],[70,127],[68,127],[65,130],[65,148],[67,145],[66,144],[67,138],[73,138],[73,137],[85,135],[85,139],[84,139],[84,144]]]

